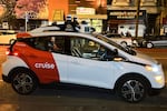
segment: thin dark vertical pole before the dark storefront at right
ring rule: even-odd
[[[137,11],[136,11],[136,32],[135,37],[138,37],[138,23],[139,23],[139,11],[140,11],[140,0],[137,1]]]

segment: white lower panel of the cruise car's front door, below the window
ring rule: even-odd
[[[112,88],[115,67],[109,61],[68,58],[68,82],[99,88]]]

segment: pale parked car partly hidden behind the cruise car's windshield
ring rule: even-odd
[[[134,47],[137,46],[136,40],[134,40],[131,37],[125,37],[119,33],[107,33],[105,34],[112,41],[117,42],[118,44],[121,44],[122,47]]]

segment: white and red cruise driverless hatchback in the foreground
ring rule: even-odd
[[[2,79],[19,94],[56,82],[109,89],[128,102],[139,102],[165,87],[160,63],[101,34],[47,28],[18,33],[7,54]]]

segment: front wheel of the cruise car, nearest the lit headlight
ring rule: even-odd
[[[126,77],[117,84],[117,94],[127,102],[139,102],[147,93],[147,82],[143,78]]]

